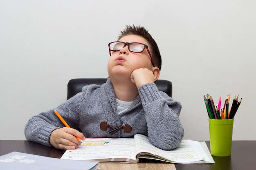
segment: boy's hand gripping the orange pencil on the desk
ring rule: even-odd
[[[83,133],[73,128],[60,128],[52,131],[50,135],[50,144],[57,149],[74,150],[81,145],[81,141],[78,141],[76,137],[81,140],[85,140]]]

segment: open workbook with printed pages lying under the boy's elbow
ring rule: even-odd
[[[66,150],[61,159],[138,163],[139,159],[170,163],[215,163],[205,142],[182,140],[174,150],[162,150],[150,144],[148,137],[86,138],[75,150]]]

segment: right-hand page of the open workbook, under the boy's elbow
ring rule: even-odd
[[[181,144],[173,150],[161,150],[150,144],[148,137],[137,134],[135,135],[135,143],[136,154],[148,152],[151,155],[174,163],[204,161],[204,157],[207,157],[198,141],[182,140]]]

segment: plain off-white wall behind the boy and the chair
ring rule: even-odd
[[[72,78],[107,77],[108,42],[146,26],[160,79],[182,103],[184,139],[209,140],[203,95],[243,97],[234,140],[256,140],[255,0],[0,0],[0,139],[24,140],[27,120],[65,101]]]

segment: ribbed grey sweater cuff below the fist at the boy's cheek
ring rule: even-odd
[[[145,103],[153,102],[162,97],[155,83],[147,83],[139,86],[139,96]]]

